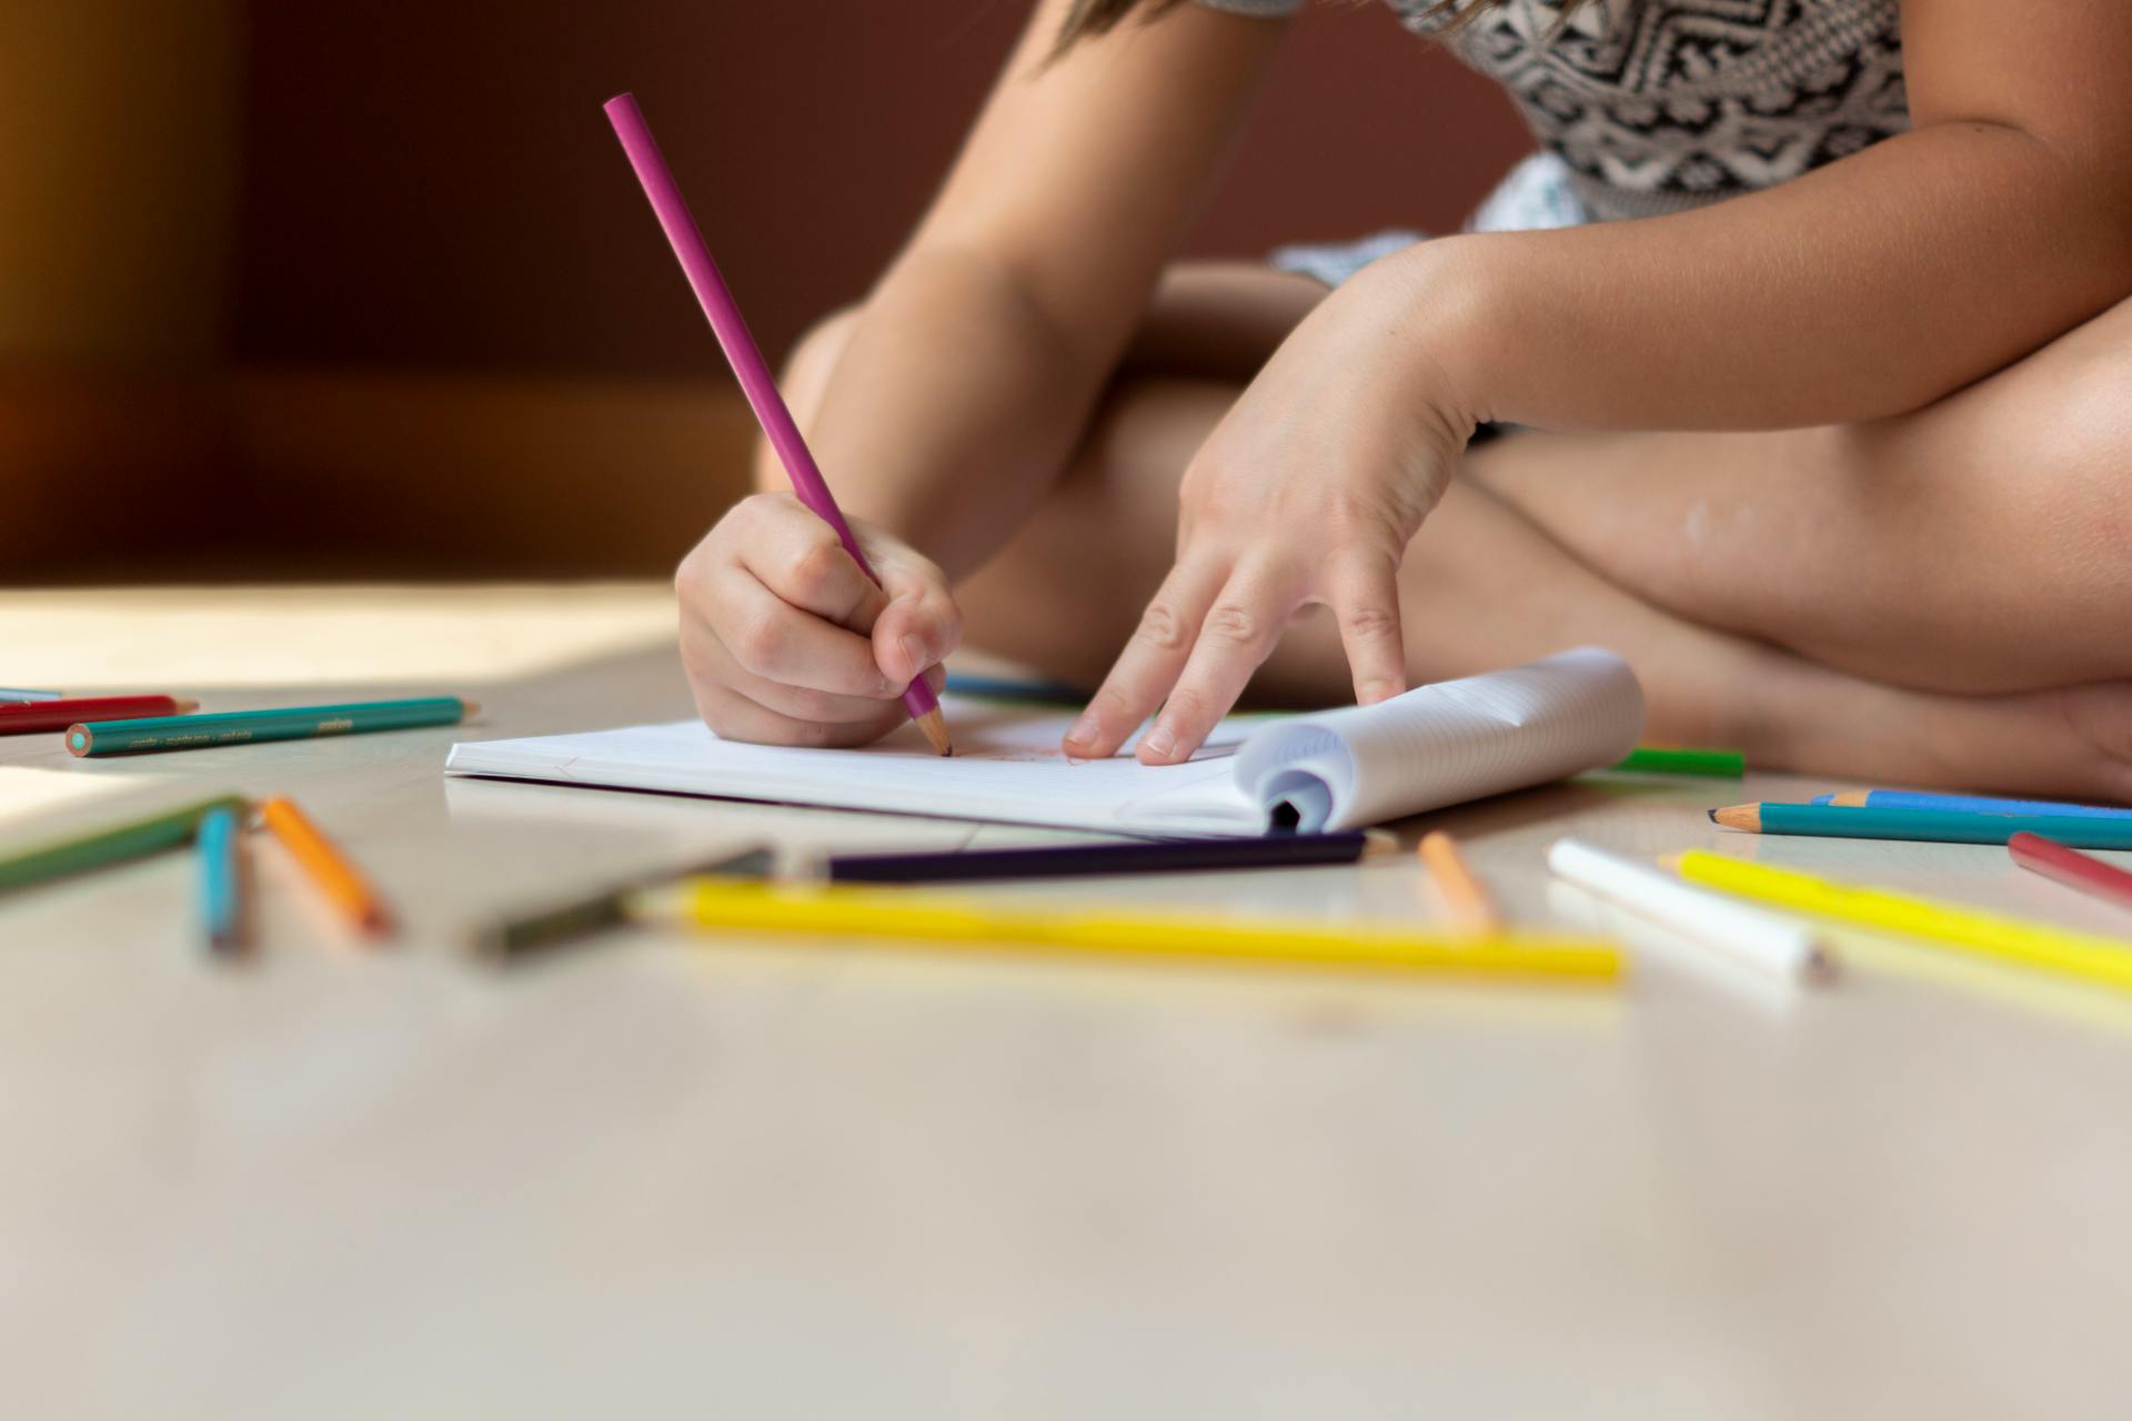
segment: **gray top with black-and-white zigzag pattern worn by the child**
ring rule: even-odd
[[[1388,2],[1416,34],[1448,23],[1433,0]],[[1303,0],[1200,4],[1283,15]],[[1450,47],[1509,89],[1582,217],[1648,217],[1904,132],[1897,19],[1897,0],[1590,0],[1550,40],[1563,0],[1507,0]],[[1475,224],[1497,226],[1486,209]]]

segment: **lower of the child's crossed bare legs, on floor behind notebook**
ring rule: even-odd
[[[972,646],[1094,686],[1168,571],[1177,479],[1234,398],[1224,381],[1141,379],[1113,392],[1083,458],[962,597]],[[1880,782],[2132,799],[2132,686],[1959,697],[1900,690],[1684,622],[1599,577],[1482,490],[1454,488],[1401,571],[1416,682],[1569,646],[1635,667],[1654,739],[1735,746],[1765,767]],[[1350,695],[1339,635],[1307,616],[1254,695]]]

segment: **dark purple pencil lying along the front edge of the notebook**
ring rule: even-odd
[[[1047,844],[944,854],[836,854],[823,876],[840,884],[949,884],[998,878],[1081,878],[1098,873],[1198,873],[1354,863],[1367,833],[1283,833],[1264,839],[1183,839],[1170,844]]]

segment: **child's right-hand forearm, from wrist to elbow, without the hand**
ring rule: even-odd
[[[1471,418],[1840,424],[1927,405],[2121,300],[2132,194],[2023,132],[1940,124],[1718,207],[1382,266],[1418,377],[1448,377]]]

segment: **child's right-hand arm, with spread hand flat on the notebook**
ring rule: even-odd
[[[2132,9],[1908,0],[1915,132],[1676,217],[1377,262],[1185,473],[1177,569],[1070,735],[1192,754],[1298,605],[1396,692],[1396,569],[1477,420],[1772,428],[1925,405],[2132,292]],[[1456,609],[1445,609],[1456,616]]]

